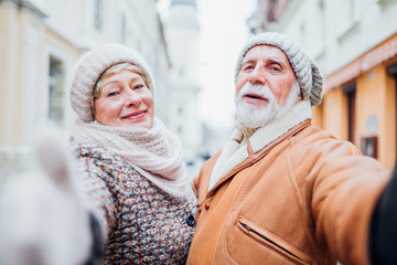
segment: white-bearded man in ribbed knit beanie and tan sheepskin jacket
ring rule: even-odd
[[[290,38],[262,33],[240,52],[235,82],[236,130],[193,183],[187,264],[378,261],[384,215],[374,211],[390,177],[311,124],[323,83],[315,63]]]

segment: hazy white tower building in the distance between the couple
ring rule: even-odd
[[[183,141],[187,166],[196,163],[202,148],[198,118],[200,25],[195,0],[172,0],[165,21],[171,61],[169,126]]]

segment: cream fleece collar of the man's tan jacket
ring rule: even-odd
[[[249,156],[258,152],[264,147],[270,145],[277,140],[277,138],[288,132],[291,128],[307,119],[311,119],[311,117],[312,112],[310,102],[301,100],[283,116],[275,119],[273,121],[255,131],[255,134],[245,145],[240,146],[239,142],[243,139],[243,135],[238,130],[235,130],[230,140],[223,148],[222,153],[214,166],[208,190],[214,188],[215,183],[221,180],[222,177],[227,174],[232,169],[242,163]]]

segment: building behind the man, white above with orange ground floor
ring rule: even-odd
[[[291,35],[319,64],[313,121],[391,170],[397,153],[397,1],[258,0],[253,33]]]

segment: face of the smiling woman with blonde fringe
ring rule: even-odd
[[[154,118],[153,94],[142,76],[121,70],[101,80],[100,95],[94,100],[94,116],[107,126],[150,129]]]

